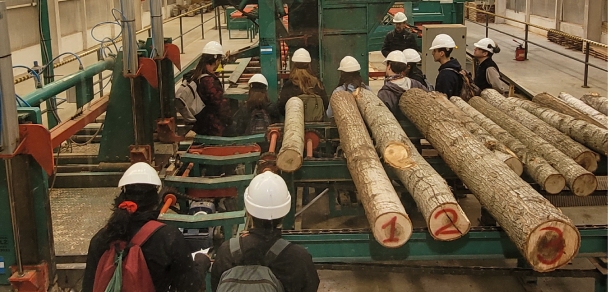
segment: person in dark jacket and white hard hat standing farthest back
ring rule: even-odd
[[[387,57],[390,52],[396,50],[414,49],[419,51],[415,35],[409,31],[407,16],[402,12],[398,12],[394,15],[392,22],[395,28],[386,34],[383,46],[381,47],[381,54]]]

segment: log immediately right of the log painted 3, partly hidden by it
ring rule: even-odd
[[[430,94],[434,96],[434,99],[436,99],[437,102],[449,110],[449,112],[451,112],[451,114],[453,114],[471,134],[477,137],[487,149],[491,150],[496,155],[496,158],[506,163],[506,165],[508,165],[517,175],[523,173],[523,164],[519,158],[517,158],[517,155],[508,149],[508,147],[500,143],[496,138],[485,131],[485,129],[479,126],[479,124],[472,120],[471,117],[451,103],[447,99],[447,96],[437,93],[436,91],[433,91]]]

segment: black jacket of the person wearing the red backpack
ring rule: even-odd
[[[156,215],[158,216],[159,213],[156,212]],[[149,220],[154,220],[157,216],[151,216]],[[134,225],[139,225],[141,228],[146,222],[148,220],[134,222]],[[98,231],[89,243],[87,265],[83,276],[83,292],[93,291],[97,265],[109,248],[103,242],[102,230]],[[209,269],[209,261],[207,267],[194,264],[184,235],[176,227],[166,225],[159,228],[141,248],[156,292],[203,291],[205,281],[203,272]]]

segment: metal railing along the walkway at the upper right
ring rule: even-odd
[[[529,51],[529,44],[532,44],[532,45],[535,45],[535,46],[537,46],[537,47],[540,47],[540,48],[546,49],[546,50],[551,51],[551,52],[553,52],[553,53],[559,54],[559,55],[561,55],[561,56],[564,56],[564,57],[566,57],[566,58],[569,58],[569,59],[572,59],[572,60],[574,60],[574,61],[577,61],[577,62],[579,62],[579,63],[584,64],[584,65],[585,65],[585,68],[584,68],[584,74],[583,74],[583,85],[582,85],[582,87],[584,87],[584,88],[589,88],[589,85],[588,85],[588,80],[589,80],[589,67],[593,67],[593,68],[595,68],[595,69],[599,69],[599,70],[601,70],[601,71],[608,72],[608,69],[605,69],[605,68],[599,67],[599,66],[597,66],[597,65],[595,65],[595,64],[591,64],[591,63],[589,62],[589,55],[590,55],[590,51],[591,51],[591,45],[595,45],[595,46],[602,47],[602,48],[608,48],[608,45],[606,45],[606,44],[602,44],[602,43],[599,43],[599,42],[596,42],[596,41],[592,41],[592,40],[589,40],[589,39],[585,39],[585,38],[581,38],[581,37],[578,37],[578,36],[575,36],[575,35],[571,35],[571,34],[565,33],[565,32],[560,31],[560,30],[549,29],[549,28],[546,28],[546,27],[543,27],[543,26],[539,26],[539,25],[535,25],[535,24],[532,24],[532,23],[529,23],[529,22],[524,22],[524,21],[520,21],[520,20],[517,20],[517,19],[509,18],[509,17],[506,17],[506,16],[498,15],[498,14],[495,14],[495,13],[488,12],[488,11],[486,11],[486,10],[475,9],[475,8],[468,8],[468,9],[469,9],[469,11],[471,11],[471,12],[472,12],[472,11],[474,11],[474,12],[480,12],[480,13],[484,13],[484,14],[485,14],[485,24],[484,24],[484,25],[483,25],[483,24],[481,24],[481,23],[478,23],[478,22],[476,22],[476,21],[472,21],[472,20],[470,20],[470,19],[467,19],[468,21],[470,21],[470,22],[472,22],[472,23],[474,23],[474,24],[477,24],[477,25],[480,25],[480,26],[485,26],[485,37],[489,37],[489,30],[491,29],[491,30],[493,30],[493,31],[496,31],[496,32],[499,32],[499,33],[501,33],[501,34],[505,34],[505,35],[511,36],[511,37],[513,37],[513,38],[515,38],[515,39],[518,39],[518,40],[523,41],[523,42],[524,42],[525,59],[526,59],[526,60],[527,60],[527,53],[528,53],[528,51]],[[512,35],[512,34],[510,34],[510,33],[500,31],[499,29],[495,29],[495,28],[493,28],[493,27],[489,27],[489,17],[490,17],[490,16],[494,16],[494,17],[503,18],[503,19],[506,19],[506,20],[509,20],[509,21],[513,21],[513,22],[516,22],[516,23],[520,23],[520,24],[525,25],[525,35],[524,35],[524,37],[523,37],[523,38],[521,38],[521,37],[518,37],[518,36],[516,36],[516,35]],[[573,40],[575,40],[575,41],[580,41],[580,42],[585,43],[585,52],[584,52],[584,54],[585,54],[585,59],[584,59],[584,60],[581,60],[581,59],[579,59],[579,58],[572,57],[572,56],[570,56],[570,55],[568,55],[568,54],[565,54],[565,53],[559,52],[559,51],[557,51],[557,50],[555,50],[555,49],[552,49],[552,48],[549,48],[549,47],[547,47],[547,46],[544,46],[544,45],[541,45],[541,44],[538,44],[538,43],[535,43],[535,42],[530,41],[530,40],[529,40],[529,32],[530,32],[530,27],[534,27],[534,28],[537,28],[537,29],[541,29],[541,30],[544,30],[544,31],[547,31],[547,32],[549,32],[549,31],[550,31],[550,32],[553,32],[553,33],[555,33],[555,34],[561,35],[561,36],[563,36],[563,37],[570,38],[570,39],[573,39]]]

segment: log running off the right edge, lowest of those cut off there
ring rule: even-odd
[[[608,155],[608,130],[572,116],[556,112],[529,100],[509,97],[509,101],[534,114],[555,129],[598,153]]]

